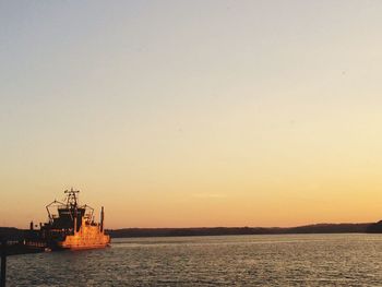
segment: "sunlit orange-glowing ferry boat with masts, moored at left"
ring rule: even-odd
[[[48,222],[34,230],[29,226],[29,247],[36,246],[45,250],[80,250],[106,248],[110,244],[110,236],[105,234],[105,212],[100,211],[100,222],[95,223],[94,208],[79,204],[79,190],[65,190],[65,200],[55,200],[46,206]]]

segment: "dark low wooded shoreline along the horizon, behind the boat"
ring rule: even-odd
[[[22,240],[25,230],[0,227],[0,238]],[[227,235],[290,235],[290,234],[362,234],[381,232],[382,220],[375,224],[315,224],[298,227],[201,227],[201,228],[123,228],[106,230],[112,238],[227,236]]]

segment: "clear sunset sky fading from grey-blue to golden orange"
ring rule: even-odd
[[[0,226],[382,219],[382,1],[1,1]]]

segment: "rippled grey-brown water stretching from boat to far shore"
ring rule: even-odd
[[[116,239],[8,263],[8,286],[382,286],[382,235]]]

